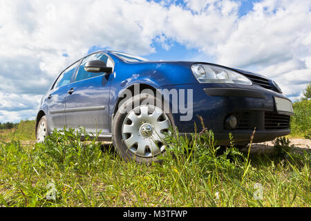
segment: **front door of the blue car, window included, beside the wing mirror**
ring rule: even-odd
[[[113,67],[113,61],[102,52],[82,60],[75,80],[69,86],[66,99],[66,122],[68,128],[83,126],[88,133],[109,133],[109,90],[111,75],[89,73],[84,70],[88,61],[102,60]]]

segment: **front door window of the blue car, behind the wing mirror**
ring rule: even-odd
[[[103,73],[90,73],[84,70],[84,66],[86,65],[88,61],[97,61],[97,60],[104,61],[106,63],[106,66],[108,67],[111,67],[111,68],[113,67],[113,62],[106,55],[102,53],[90,55],[83,59],[81,65],[79,66],[79,70],[77,72],[77,77],[75,77],[75,81],[82,81],[84,79],[102,75]]]

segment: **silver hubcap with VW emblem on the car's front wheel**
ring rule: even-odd
[[[169,117],[156,106],[134,108],[124,119],[122,137],[129,151],[140,157],[155,157],[165,150]]]

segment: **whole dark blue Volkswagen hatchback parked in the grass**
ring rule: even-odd
[[[290,134],[292,102],[272,79],[216,64],[147,61],[101,50],[66,68],[41,99],[37,142],[54,129],[79,129],[113,142],[125,160],[158,161],[170,128],[202,124],[219,145],[265,142]]]

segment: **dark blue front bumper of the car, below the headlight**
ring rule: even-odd
[[[273,90],[261,86],[242,86],[232,84],[184,84],[166,86],[162,89],[193,91],[193,118],[181,121],[180,113],[173,113],[175,125],[180,134],[194,133],[195,125],[198,133],[202,124],[214,132],[219,145],[229,144],[229,133],[232,133],[236,144],[249,144],[256,128],[252,142],[265,142],[276,137],[290,134],[290,116],[278,115],[274,104],[274,96],[284,97]],[[185,96],[187,98],[187,95]],[[170,102],[171,103],[171,102]],[[191,101],[186,99],[185,104]],[[225,120],[229,115],[237,115],[240,121],[238,128],[229,129]]]

